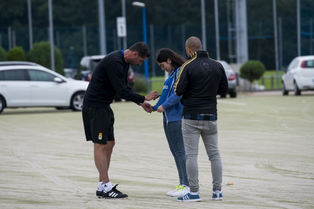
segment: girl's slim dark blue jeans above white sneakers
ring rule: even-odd
[[[175,159],[179,173],[180,185],[189,185],[187,180],[187,168],[185,149],[181,130],[181,121],[168,122],[164,118],[164,130],[170,151]]]

